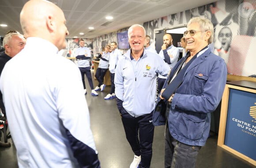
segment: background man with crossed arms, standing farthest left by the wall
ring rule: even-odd
[[[79,40],[80,47],[75,50],[75,58],[78,59],[77,65],[82,75],[84,94],[87,94],[85,87],[84,75],[86,75],[91,88],[91,95],[98,96],[98,93],[94,91],[91,73],[90,73],[90,48],[84,47],[84,40]]]

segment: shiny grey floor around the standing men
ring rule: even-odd
[[[94,88],[98,82],[94,81]],[[104,91],[98,91],[98,96],[90,95],[88,81],[87,103],[90,110],[90,125],[94,134],[96,148],[102,168],[129,168],[134,154],[129,146],[117,110],[116,100],[104,100],[110,91],[107,86]],[[155,127],[153,142],[153,157],[151,168],[164,168],[164,127]],[[3,139],[3,138],[2,138]],[[197,168],[255,168],[232,153],[217,146],[218,135],[211,132],[199,152]],[[11,147],[0,149],[0,168],[18,168],[15,146],[11,139]]]

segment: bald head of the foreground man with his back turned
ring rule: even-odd
[[[20,13],[20,24],[26,37],[39,37],[53,43],[59,50],[66,48],[63,11],[47,0],[30,0]]]

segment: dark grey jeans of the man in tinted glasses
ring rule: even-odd
[[[174,139],[166,126],[165,168],[196,168],[201,146],[190,146]]]

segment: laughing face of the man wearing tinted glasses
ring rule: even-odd
[[[195,22],[188,26],[188,31],[190,30],[196,30],[194,36],[191,36],[188,32],[185,36],[186,42],[187,42],[187,49],[191,52],[191,54],[196,54],[200,50],[203,49],[203,47],[206,47],[208,45],[208,39],[211,36],[210,31],[202,31],[200,29],[199,23]]]

